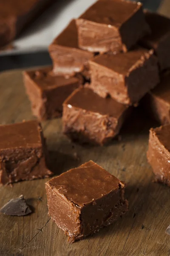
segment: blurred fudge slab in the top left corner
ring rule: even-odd
[[[0,0],[0,47],[11,42],[51,2],[54,0]]]

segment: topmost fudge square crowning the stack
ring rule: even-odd
[[[142,4],[99,0],[77,20],[79,47],[90,52],[127,52],[150,32]]]

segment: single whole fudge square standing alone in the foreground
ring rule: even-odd
[[[70,242],[108,226],[128,209],[125,184],[93,161],[46,184],[48,214]]]

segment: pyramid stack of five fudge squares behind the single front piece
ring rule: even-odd
[[[156,49],[137,45],[151,33],[145,15],[141,3],[99,0],[71,20],[49,46],[53,67],[24,74],[33,114],[62,116],[64,133],[80,143],[115,137],[159,83]]]

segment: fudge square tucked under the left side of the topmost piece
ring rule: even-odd
[[[75,20],[71,20],[64,31],[49,46],[53,61],[53,72],[56,75],[70,75],[88,70],[88,60],[94,55],[79,49]],[[89,78],[86,74],[85,77]]]

